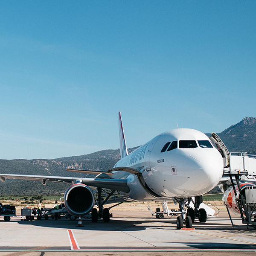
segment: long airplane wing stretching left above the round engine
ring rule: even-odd
[[[103,179],[103,178],[81,178],[81,177],[61,177],[61,176],[41,176],[41,175],[18,175],[18,174],[0,174],[0,180],[10,179],[23,180],[41,180],[43,184],[47,181],[76,183],[79,181],[87,186],[101,187],[105,189],[113,189],[128,193],[130,191],[126,179]]]

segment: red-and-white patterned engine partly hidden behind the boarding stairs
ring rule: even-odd
[[[242,183],[240,184],[241,190],[242,190],[242,194],[244,193],[244,189],[247,186],[255,186],[255,184],[252,183]],[[238,198],[240,198],[240,192],[238,189],[238,186],[235,186],[236,188],[236,194],[238,196]],[[225,205],[227,205],[227,207],[229,209],[232,210],[233,213],[235,213],[236,215],[240,216],[240,210],[239,210],[239,206],[236,202],[236,195],[233,189],[233,186],[230,186],[223,194],[222,196],[222,201]]]

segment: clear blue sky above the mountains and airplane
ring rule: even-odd
[[[0,2],[0,159],[256,117],[256,1]]]

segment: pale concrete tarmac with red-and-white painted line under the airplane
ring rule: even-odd
[[[176,217],[157,219],[149,211],[111,210],[109,223],[82,218],[21,221],[0,217],[0,256],[9,255],[256,255],[256,229],[227,211],[194,229],[176,229]]]

